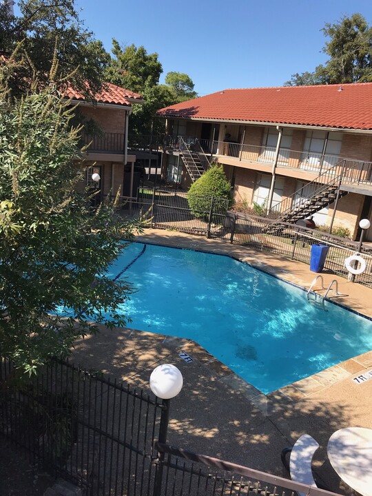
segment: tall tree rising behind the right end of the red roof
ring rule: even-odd
[[[314,72],[293,74],[286,85],[372,81],[372,28],[361,14],[327,23],[322,32],[330,39],[322,50],[330,59]]]

